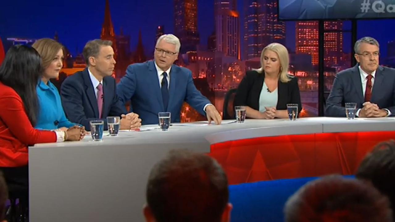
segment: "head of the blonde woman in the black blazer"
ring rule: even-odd
[[[288,50],[280,43],[271,43],[261,52],[261,67],[257,71],[265,75],[279,76],[281,82],[290,81],[288,65],[290,63]]]

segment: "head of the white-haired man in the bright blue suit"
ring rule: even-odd
[[[156,41],[154,60],[156,65],[166,71],[177,60],[181,43],[173,34],[161,35]]]

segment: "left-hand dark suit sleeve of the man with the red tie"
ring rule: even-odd
[[[345,117],[346,108],[342,106],[343,102],[343,80],[337,74],[333,81],[333,86],[329,97],[326,100],[325,116],[331,117]]]

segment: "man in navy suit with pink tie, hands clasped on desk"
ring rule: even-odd
[[[90,120],[102,119],[107,129],[107,116],[120,116],[120,129],[139,129],[137,114],[126,114],[119,101],[115,79],[114,50],[111,41],[95,39],[83,50],[87,68],[66,78],[60,88],[63,109],[70,121],[90,130]],[[125,115],[126,114],[126,115]]]

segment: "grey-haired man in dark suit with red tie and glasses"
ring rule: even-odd
[[[379,44],[363,37],[354,45],[358,64],[338,73],[326,101],[326,116],[344,117],[344,103],[357,103],[356,116],[395,114],[395,69],[378,65]]]

